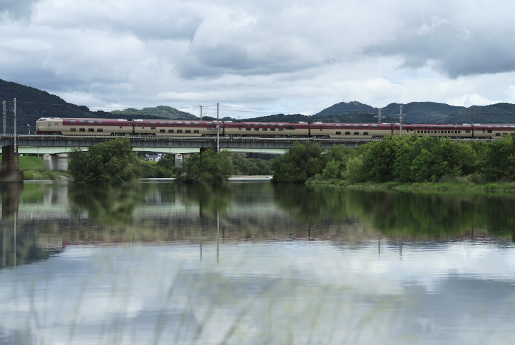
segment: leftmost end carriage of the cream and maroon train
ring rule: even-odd
[[[41,117],[36,121],[37,134],[131,135],[132,132],[132,121],[127,119]]]

